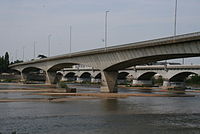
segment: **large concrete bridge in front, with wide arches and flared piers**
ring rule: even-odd
[[[10,65],[22,79],[34,69],[43,70],[46,83],[55,83],[56,72],[72,65],[86,65],[101,71],[101,92],[117,92],[118,70],[160,60],[200,56],[200,33],[70,53]]]

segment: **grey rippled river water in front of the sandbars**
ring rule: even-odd
[[[16,86],[2,86],[2,89]],[[26,87],[20,87],[26,88]],[[81,89],[85,87],[79,86]],[[98,89],[95,89],[98,90]],[[125,91],[120,89],[120,92]],[[129,90],[127,92],[130,92]],[[151,94],[151,93],[149,93]],[[0,93],[0,98],[28,98]],[[200,96],[128,97],[66,102],[0,103],[0,133],[11,134],[199,134]]]

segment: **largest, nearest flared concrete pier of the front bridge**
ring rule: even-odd
[[[117,71],[101,72],[101,92],[116,93],[117,92]]]

